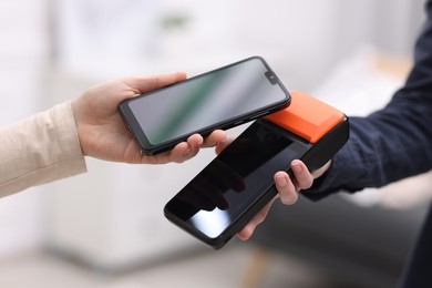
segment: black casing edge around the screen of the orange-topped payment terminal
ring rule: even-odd
[[[308,166],[310,171],[313,171],[320,166],[322,166],[325,163],[327,163],[330,158],[333,157],[333,155],[344,145],[344,143],[348,141],[349,137],[349,123],[348,119],[343,119],[339,124],[337,124],[332,130],[330,130],[322,138],[320,138],[317,143],[310,144],[304,138],[299,137],[298,135],[286,131],[281,128],[280,126],[270,123],[265,120],[258,120],[253,125],[266,125],[267,127],[270,127],[277,133],[282,133],[284,136],[289,137],[292,140],[292,142],[299,144],[305,148],[304,152],[298,152],[298,158],[305,162],[305,164]],[[237,137],[237,140],[241,138],[241,134]],[[226,148],[226,151],[229,150],[229,146]],[[224,151],[225,152],[225,151]],[[222,153],[224,153],[222,152]],[[228,152],[225,152],[228,153]],[[210,165],[210,164],[209,164]],[[287,161],[287,166],[285,167],[286,172],[292,177],[292,173],[289,167],[289,163]],[[274,183],[274,179],[269,178],[268,184],[266,185],[267,188],[261,193],[260,197],[256,198],[254,202],[251,202],[248,205],[248,208],[246,208],[236,219],[234,219],[228,227],[217,237],[210,238],[206,236],[205,234],[200,233],[197,229],[194,229],[191,225],[183,222],[179,217],[174,215],[169,212],[167,208],[168,204],[164,207],[164,215],[165,217],[177,225],[178,227],[183,228],[184,230],[188,232],[191,235],[196,237],[197,239],[204,241],[205,244],[212,246],[214,249],[220,249],[229,241],[229,239],[233,238],[260,209],[264,208],[264,206],[271,200],[276,194],[277,189]],[[175,197],[175,196],[174,196]],[[169,202],[168,202],[169,203]]]

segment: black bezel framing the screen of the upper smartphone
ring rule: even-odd
[[[285,100],[279,101],[279,102],[275,102],[274,104],[270,104],[268,106],[265,106],[265,107],[261,107],[261,109],[258,109],[258,110],[250,111],[248,113],[238,115],[237,117],[228,119],[228,120],[222,121],[219,123],[215,123],[213,125],[209,125],[209,126],[196,130],[196,131],[192,131],[188,134],[185,134],[185,135],[179,136],[179,137],[172,138],[169,141],[166,141],[166,142],[163,142],[163,143],[160,143],[160,144],[156,144],[156,145],[153,145],[153,144],[151,144],[148,142],[148,140],[147,140],[143,128],[141,127],[138,121],[134,116],[134,113],[132,112],[131,107],[128,106],[128,103],[131,101],[135,101],[136,97],[143,97],[143,96],[146,96],[146,95],[150,95],[150,94],[155,94],[155,93],[157,93],[160,91],[163,91],[163,90],[165,90],[167,88],[172,88],[172,86],[175,86],[175,85],[182,85],[182,84],[187,83],[189,81],[194,81],[196,79],[206,76],[206,75],[208,75],[210,73],[218,72],[220,70],[228,69],[228,68],[232,68],[234,65],[238,65],[238,64],[241,64],[244,62],[247,62],[247,61],[250,61],[250,60],[254,60],[254,59],[258,59],[266,66],[268,72],[270,72],[275,76],[275,78],[272,78],[269,81],[275,82],[281,89],[282,93],[286,95]],[[187,79],[187,80],[182,81],[182,82],[177,82],[177,83],[168,85],[168,86],[164,86],[164,88],[161,88],[161,89],[147,92],[147,93],[143,93],[143,94],[136,96],[136,97],[128,99],[128,100],[125,100],[122,103],[120,103],[119,112],[120,112],[123,121],[125,122],[128,131],[133,135],[135,142],[138,144],[142,153],[144,153],[146,155],[155,155],[155,154],[160,154],[162,152],[172,150],[176,144],[178,144],[178,143],[183,142],[183,141],[186,141],[188,136],[191,136],[191,135],[193,135],[195,133],[198,133],[198,134],[200,134],[202,136],[205,137],[208,134],[210,134],[214,130],[218,130],[218,128],[220,128],[220,130],[228,130],[228,128],[241,125],[244,123],[247,123],[249,121],[254,121],[254,120],[256,120],[258,117],[265,116],[267,114],[270,114],[270,113],[274,113],[276,111],[279,111],[281,109],[287,107],[289,105],[290,101],[291,101],[291,95],[289,94],[289,92],[285,88],[285,85],[281,83],[279,78],[276,75],[276,73],[272,71],[272,69],[266,62],[266,60],[264,60],[264,58],[258,56],[258,55],[250,56],[250,58],[237,61],[235,63],[232,63],[232,64],[228,64],[228,65],[225,65],[225,66],[222,66],[222,68],[208,71],[206,73],[193,76],[191,79]]]

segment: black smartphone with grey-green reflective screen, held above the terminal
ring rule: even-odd
[[[189,135],[208,135],[289,105],[290,94],[267,62],[253,56],[122,102],[143,153],[154,155]]]

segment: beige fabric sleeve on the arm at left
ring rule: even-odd
[[[0,197],[84,172],[70,102],[0,127]]]

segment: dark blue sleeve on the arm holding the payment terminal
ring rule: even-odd
[[[350,119],[350,138],[325,176],[304,194],[381,187],[432,168],[432,1],[407,82],[382,110]]]

